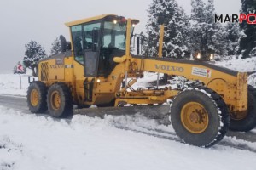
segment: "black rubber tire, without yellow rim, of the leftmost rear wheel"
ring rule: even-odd
[[[33,106],[31,103],[30,96],[33,89],[36,89],[38,91],[38,105],[36,106]],[[46,94],[47,88],[44,82],[32,82],[27,89],[26,95],[26,102],[29,111],[31,111],[32,113],[44,113],[45,111],[47,111]]]

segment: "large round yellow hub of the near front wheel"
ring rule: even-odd
[[[181,121],[190,133],[203,133],[208,127],[208,113],[201,104],[189,102],[183,105]]]

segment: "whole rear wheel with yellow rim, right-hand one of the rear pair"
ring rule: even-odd
[[[47,94],[49,115],[65,118],[73,114],[73,98],[70,89],[64,83],[55,83]]]

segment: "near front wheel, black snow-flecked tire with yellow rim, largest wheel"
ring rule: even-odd
[[[173,99],[171,121],[187,144],[210,147],[224,138],[230,123],[224,100],[209,88],[188,88]]]

